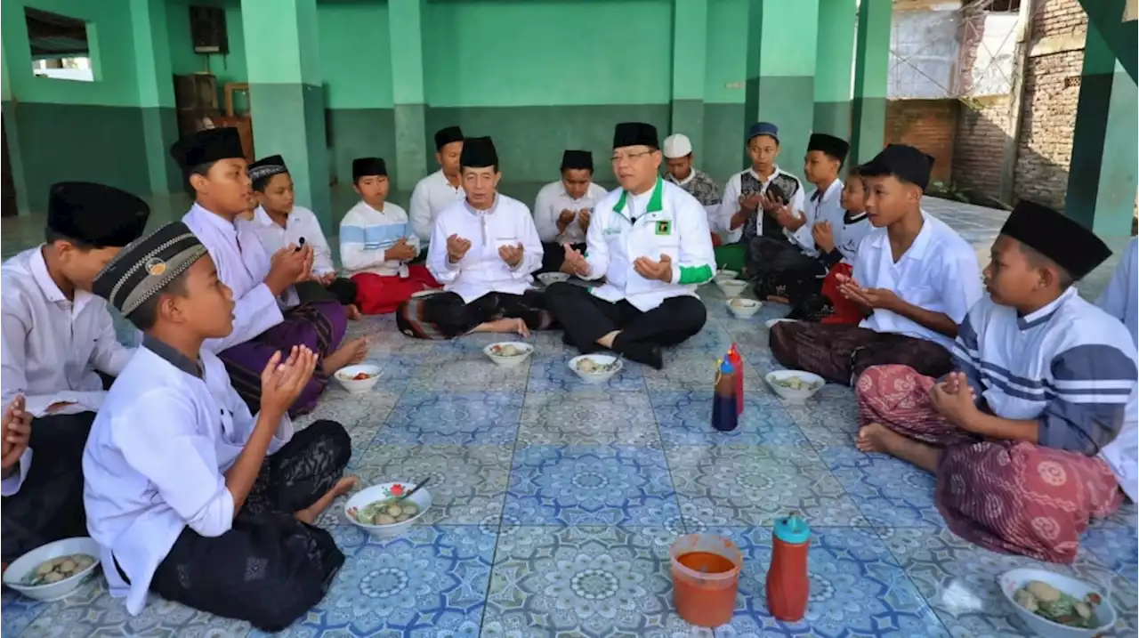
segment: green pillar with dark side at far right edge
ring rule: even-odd
[[[1065,213],[1097,235],[1129,237],[1139,186],[1139,85],[1088,25]]]

